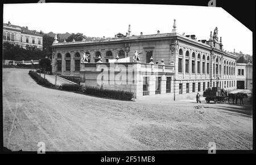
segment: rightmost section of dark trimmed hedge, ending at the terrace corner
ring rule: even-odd
[[[100,96],[103,98],[112,98],[119,100],[131,100],[134,98],[133,92],[121,91],[121,90],[107,90],[103,88],[85,86],[82,87],[82,92],[89,95]]]

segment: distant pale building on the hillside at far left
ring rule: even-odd
[[[28,27],[20,27],[10,22],[3,23],[3,42],[18,44],[26,49],[26,45],[36,46],[43,50],[43,35],[31,31]]]

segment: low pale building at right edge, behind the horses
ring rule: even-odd
[[[237,63],[237,89],[253,89],[253,64]]]

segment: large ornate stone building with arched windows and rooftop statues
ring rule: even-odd
[[[195,98],[196,92],[203,92],[208,87],[232,90],[236,88],[237,82],[237,57],[224,51],[217,33],[216,27],[213,34],[210,32],[208,40],[197,40],[195,35],[180,35],[174,20],[170,33],[158,31],[153,35],[143,35],[141,32],[141,35],[135,36],[131,35],[129,26],[126,37],[73,40],[68,43],[58,43],[55,38],[52,44],[52,71],[66,76],[79,76],[82,83],[91,86],[133,91],[137,97],[169,93],[174,99]],[[133,61],[135,50],[142,52],[139,56],[141,63],[109,63],[117,55],[119,58],[129,57]],[[82,52],[88,54],[88,64],[80,64]],[[99,57],[102,63],[97,62]],[[151,60],[154,64],[150,64]],[[131,66],[133,70],[128,69]],[[120,67],[126,71],[120,70]],[[108,75],[102,77],[106,72]],[[131,80],[133,84],[117,84],[116,79],[120,79],[118,73],[126,73],[126,78],[130,76],[127,82]]]

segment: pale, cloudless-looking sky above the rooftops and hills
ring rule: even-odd
[[[218,27],[224,49],[253,54],[253,33],[225,10],[218,7],[98,4],[98,3],[24,3],[4,4],[3,23],[45,33],[83,33],[90,37],[125,34],[131,24],[133,35],[169,33],[176,19],[177,32],[210,37]]]

